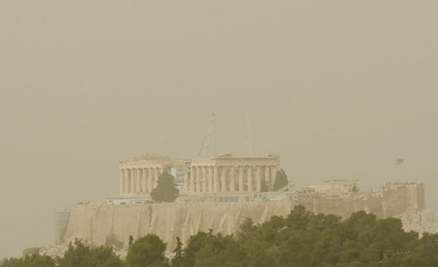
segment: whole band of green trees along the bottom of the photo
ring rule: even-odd
[[[133,241],[122,261],[112,248],[90,248],[76,241],[62,258],[34,253],[4,259],[0,266],[374,267],[379,266],[380,252],[403,251],[415,253],[390,254],[381,266],[438,266],[438,234],[424,233],[419,239],[417,232],[404,232],[399,219],[376,219],[360,211],[341,221],[337,215],[315,215],[300,205],[285,218],[272,216],[263,224],[247,219],[235,236],[198,232],[184,245],[177,238],[175,256],[167,259],[166,244],[148,234]]]

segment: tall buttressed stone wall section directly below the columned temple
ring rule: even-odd
[[[263,223],[272,215],[289,214],[290,209],[288,202],[76,205],[64,238],[84,239],[98,246],[113,238],[126,247],[129,235],[136,239],[154,233],[172,250],[177,236],[184,243],[190,235],[209,228],[231,234],[245,218]]]

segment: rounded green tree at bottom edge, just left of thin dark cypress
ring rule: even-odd
[[[126,264],[133,267],[167,266],[164,252],[166,243],[155,234],[147,234],[136,240],[129,248]]]

